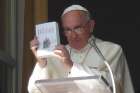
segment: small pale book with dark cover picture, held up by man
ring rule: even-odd
[[[60,44],[59,27],[57,22],[46,22],[35,26],[36,37],[39,41],[38,57],[51,55],[54,48]]]

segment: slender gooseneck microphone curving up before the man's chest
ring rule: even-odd
[[[105,59],[105,57],[103,56],[102,52],[100,51],[100,49],[98,48],[98,46],[96,45],[96,42],[95,42],[95,37],[92,39],[93,43],[89,42],[91,46],[93,46],[97,52],[97,54],[102,58],[104,64],[106,65],[106,67],[108,68],[109,70],[109,73],[110,73],[110,76],[111,76],[111,81],[112,81],[112,87],[113,87],[113,93],[116,93],[116,85],[115,85],[115,80],[114,80],[114,76],[113,76],[113,72],[111,70],[111,67],[110,65],[108,64],[108,61]],[[105,78],[103,78],[103,81],[106,82]]]

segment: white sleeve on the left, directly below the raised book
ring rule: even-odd
[[[36,80],[65,77],[66,72],[65,69],[62,68],[62,66],[63,64],[55,58],[47,59],[47,65],[45,66],[40,66],[39,63],[36,63],[28,82],[29,93],[34,93],[33,91],[38,91],[37,87],[35,86]]]

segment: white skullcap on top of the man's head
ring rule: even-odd
[[[86,8],[84,8],[83,6],[81,6],[81,5],[71,5],[71,6],[67,7],[67,8],[63,11],[62,16],[63,16],[64,14],[66,14],[66,13],[68,13],[68,12],[70,12],[70,11],[74,11],[74,10],[81,10],[81,11],[85,11],[85,12],[88,12],[88,13],[89,13],[89,11],[88,11]]]

